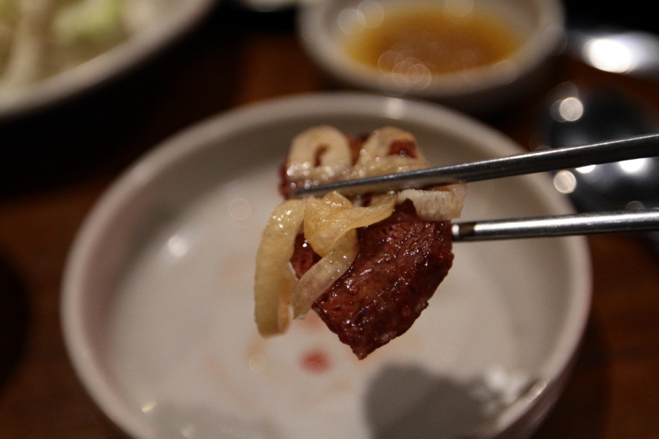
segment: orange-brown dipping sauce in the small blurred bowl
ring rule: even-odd
[[[344,46],[355,60],[388,74],[460,72],[494,64],[519,48],[510,24],[480,8],[454,13],[420,4],[379,12],[348,32]]]

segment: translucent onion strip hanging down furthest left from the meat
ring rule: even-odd
[[[304,201],[284,201],[272,211],[261,237],[254,275],[254,320],[263,336],[285,332],[290,323],[290,294],[296,282],[290,258],[303,217]]]

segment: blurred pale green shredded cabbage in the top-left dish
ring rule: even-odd
[[[81,65],[183,0],[0,0],[0,95]]]

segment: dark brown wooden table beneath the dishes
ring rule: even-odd
[[[238,104],[328,87],[290,17],[218,11],[149,65],[64,107],[0,125],[0,438],[108,438],[64,351],[60,281],[83,218],[126,166],[168,135]],[[659,86],[562,59],[551,83]],[[545,89],[546,90],[546,89]],[[522,145],[545,90],[485,120]],[[659,255],[594,236],[583,351],[538,438],[659,438]]]

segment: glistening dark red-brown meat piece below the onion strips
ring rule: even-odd
[[[410,201],[358,229],[358,239],[351,268],[312,308],[361,359],[412,326],[451,268],[453,253],[450,222],[420,219]],[[316,257],[299,237],[291,259],[297,276]]]

